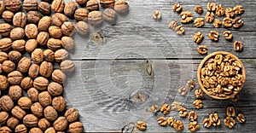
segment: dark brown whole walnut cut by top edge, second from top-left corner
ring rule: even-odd
[[[12,12],[16,12],[21,8],[20,0],[5,0],[4,4],[5,9]]]

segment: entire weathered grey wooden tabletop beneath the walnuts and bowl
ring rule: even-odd
[[[183,10],[189,10],[194,14],[194,19],[204,17],[207,12],[207,0],[129,0],[129,14],[119,15],[115,25],[107,22],[97,28],[91,28],[90,32],[100,32],[105,43],[92,43],[89,38],[74,35],[76,49],[71,54],[75,61],[76,71],[69,75],[65,84],[65,95],[69,107],[77,107],[80,120],[84,124],[84,131],[121,131],[120,129],[130,122],[144,120],[148,123],[145,132],[174,132],[171,127],[160,127],[156,116],[145,113],[144,108],[152,104],[172,103],[180,101],[188,111],[195,110],[198,113],[198,122],[201,125],[199,132],[253,132],[256,130],[256,1],[212,1],[222,3],[225,8],[232,8],[241,4],[245,8],[241,14],[244,26],[240,29],[229,28],[233,33],[233,40],[226,41],[223,32],[227,30],[223,26],[214,28],[212,24],[196,28],[192,23],[183,25],[185,34],[178,36],[168,28],[171,20],[179,21],[179,14],[172,11],[174,3],[183,5]],[[203,14],[195,14],[195,5],[204,8]],[[162,12],[162,20],[152,19],[154,9]],[[218,19],[219,18],[217,17]],[[218,43],[208,38],[208,33],[216,30],[220,34]],[[202,44],[207,45],[208,54],[214,51],[228,51],[237,55],[244,63],[247,72],[247,80],[240,93],[239,101],[219,101],[204,95],[204,107],[195,109],[192,102],[195,101],[194,90],[188,95],[179,95],[177,89],[186,84],[189,79],[196,79],[197,67],[205,55],[197,53],[198,44],[192,38],[195,32],[201,31],[205,35]],[[243,51],[237,53],[233,49],[234,41],[244,43]],[[149,78],[145,72],[145,62],[149,60],[154,66],[154,77]],[[196,88],[198,88],[196,84]],[[147,101],[137,104],[132,101],[131,94],[143,91],[148,95]],[[225,107],[234,105],[236,110],[246,116],[245,124],[236,124],[235,128],[227,128],[223,119]],[[221,126],[206,129],[202,126],[203,119],[209,113],[217,112],[222,120]],[[178,117],[177,112],[172,111],[167,116]],[[188,119],[181,119],[184,124],[183,132],[188,132]]]

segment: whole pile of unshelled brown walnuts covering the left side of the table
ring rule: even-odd
[[[83,132],[79,111],[67,109],[62,96],[75,67],[68,60],[72,35],[87,35],[90,26],[113,22],[128,8],[124,0],[0,0],[0,132]]]

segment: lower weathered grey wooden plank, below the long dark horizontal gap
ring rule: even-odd
[[[78,107],[80,120],[85,131],[113,131],[119,130],[124,124],[145,120],[148,122],[148,132],[170,132],[169,127],[160,127],[156,123],[156,116],[143,113],[144,107],[151,104],[181,101],[189,111],[195,110],[199,116],[198,122],[207,118],[209,113],[218,112],[224,119],[225,107],[235,105],[237,110],[247,117],[246,124],[236,124],[236,128],[229,130],[222,121],[221,127],[210,130],[202,127],[200,132],[251,132],[255,129],[256,115],[255,74],[256,60],[242,60],[247,70],[247,81],[241,90],[240,100],[219,101],[204,95],[204,107],[196,110],[192,104],[195,100],[194,90],[186,96],[178,94],[179,86],[186,84],[189,79],[196,80],[196,69],[201,60],[153,60],[154,78],[148,78],[144,71],[144,60],[109,60],[109,61],[75,61],[76,72],[69,75],[65,85],[67,101],[73,107]],[[198,87],[198,85],[196,85]],[[144,90],[149,96],[143,104],[137,104],[129,96],[135,90]],[[167,116],[180,119],[175,111]],[[189,120],[182,119],[184,130]]]

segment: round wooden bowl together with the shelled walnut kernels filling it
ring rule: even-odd
[[[232,99],[242,89],[246,72],[236,55],[218,51],[207,55],[198,67],[201,89],[215,99]]]

